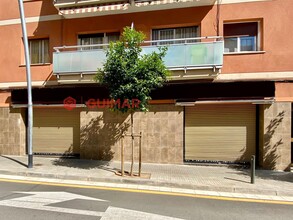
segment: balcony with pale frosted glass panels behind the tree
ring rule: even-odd
[[[183,79],[203,73],[215,76],[222,68],[224,43],[218,37],[146,41],[142,54],[158,51],[162,44],[168,47],[164,62],[172,71],[173,78]],[[103,67],[106,47],[106,44],[55,47],[53,73],[58,78],[95,74],[98,68]]]

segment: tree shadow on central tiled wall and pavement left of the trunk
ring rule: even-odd
[[[90,112],[88,113],[90,114]],[[99,162],[87,161],[87,165],[85,165],[84,161],[80,163],[72,159],[59,158],[53,164],[84,169],[106,165],[107,161],[113,159],[112,147],[120,141],[122,134],[130,127],[130,124],[125,122],[127,117],[128,114],[104,111],[103,114],[91,118],[81,127],[80,151],[82,158],[100,160]]]

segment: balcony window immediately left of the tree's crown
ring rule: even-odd
[[[78,36],[78,45],[107,44],[119,40],[120,33],[83,34]],[[84,47],[82,50],[101,49],[101,46]]]

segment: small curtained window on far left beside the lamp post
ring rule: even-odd
[[[49,39],[29,40],[31,64],[49,63]]]

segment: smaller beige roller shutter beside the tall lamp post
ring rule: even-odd
[[[80,112],[78,109],[34,109],[34,153],[79,153]]]

